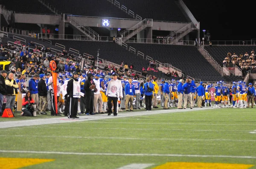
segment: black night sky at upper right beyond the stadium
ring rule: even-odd
[[[211,34],[211,40],[256,39],[255,11],[247,0],[183,0],[200,22],[200,36],[203,29]],[[252,8],[251,8],[252,7]]]

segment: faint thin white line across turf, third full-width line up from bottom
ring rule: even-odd
[[[59,129],[59,127],[26,127],[32,129]],[[84,129],[81,127],[61,127],[61,129]],[[251,132],[251,130],[186,130],[186,129],[132,129],[132,128],[86,128],[93,130],[167,130],[167,131],[198,131],[198,132]],[[5,129],[2,129],[6,131]],[[0,130],[1,131],[1,130]]]

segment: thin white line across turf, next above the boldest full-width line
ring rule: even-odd
[[[123,138],[123,137],[82,137],[82,136],[55,136],[55,135],[0,135],[0,137],[45,137],[45,138],[87,138],[87,139],[120,139],[120,140],[168,140],[168,141],[237,141],[256,142],[256,140],[231,140],[231,139],[185,139],[185,138]]]

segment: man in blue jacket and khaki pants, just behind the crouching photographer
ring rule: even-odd
[[[39,97],[38,97],[38,83],[36,82],[39,79],[38,74],[35,74],[30,80],[29,80],[29,91],[30,96],[33,100],[35,100],[36,103],[36,110],[39,112]]]

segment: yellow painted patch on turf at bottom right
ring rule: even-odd
[[[173,162],[165,163],[154,169],[249,169],[254,165],[247,164],[229,164],[229,163],[187,163]]]

